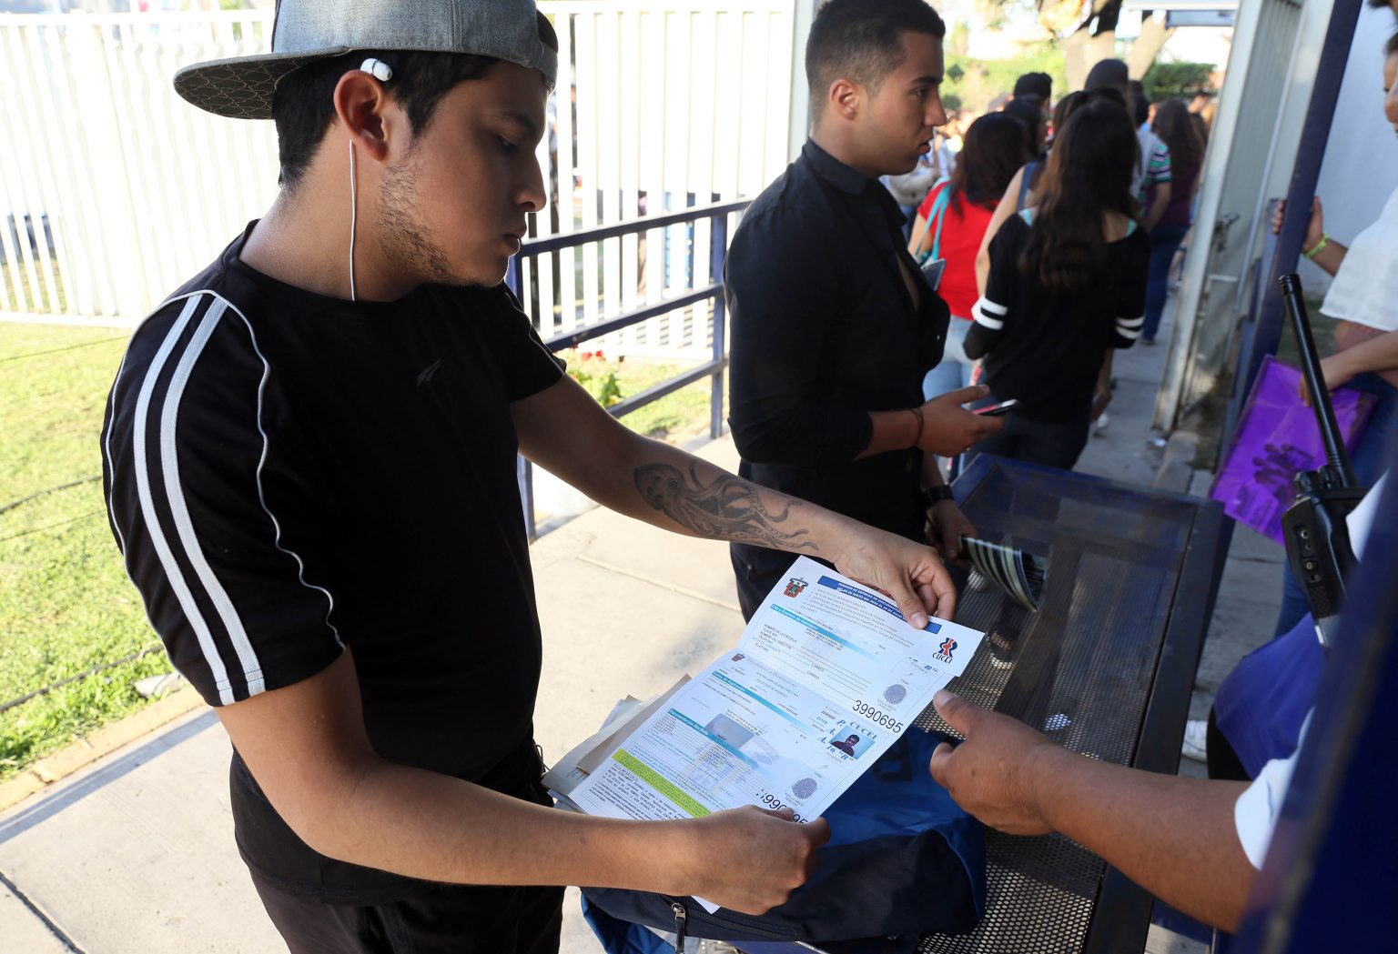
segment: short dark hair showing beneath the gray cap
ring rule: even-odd
[[[542,14],[538,17],[538,38],[558,52],[558,34]],[[287,74],[277,84],[271,105],[271,117],[277,124],[277,158],[281,162],[278,182],[287,191],[301,182],[336,117],[334,92],[340,77],[358,70],[370,56],[393,68],[387,88],[408,115],[414,135],[432,122],[442,96],[457,84],[484,78],[499,63],[495,57],[471,53],[355,50],[315,60]]]

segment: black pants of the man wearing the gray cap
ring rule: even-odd
[[[404,901],[355,907],[252,876],[291,954],[558,954],[563,888],[443,884]]]

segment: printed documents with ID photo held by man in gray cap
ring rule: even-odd
[[[618,704],[544,777],[561,805],[685,819],[756,805],[818,817],[980,645],[946,620],[914,630],[882,594],[801,557],[742,638],[693,679]]]

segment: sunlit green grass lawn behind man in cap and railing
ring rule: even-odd
[[[0,705],[158,643],[102,503],[98,439],[126,338],[0,323]],[[684,370],[604,366],[622,397]],[[707,379],[622,418],[678,441],[707,420]],[[0,712],[0,779],[138,708],[133,683],[169,668],[155,652]]]

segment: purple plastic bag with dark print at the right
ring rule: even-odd
[[[1282,514],[1296,499],[1292,478],[1325,462],[1316,409],[1302,404],[1300,383],[1302,373],[1290,365],[1271,355],[1262,360],[1233,444],[1209,490],[1209,497],[1223,504],[1223,513],[1282,546]],[[1374,409],[1374,395],[1342,387],[1331,402],[1345,450],[1353,454]]]

